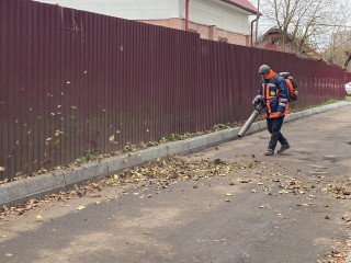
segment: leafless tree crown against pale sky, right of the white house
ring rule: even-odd
[[[338,25],[346,23],[341,20],[350,15],[335,0],[263,0],[261,9],[265,19],[279,27],[283,42],[288,37],[297,49],[304,44],[324,49]]]

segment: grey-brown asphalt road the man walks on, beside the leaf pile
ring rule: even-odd
[[[261,132],[183,157],[236,163],[227,175],[48,201],[0,221],[0,262],[342,262],[328,255],[347,254],[350,130],[346,106],[284,124],[284,155],[263,156]]]

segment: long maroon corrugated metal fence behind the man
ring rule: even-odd
[[[245,119],[263,62],[294,72],[299,106],[344,95],[337,67],[193,33],[29,0],[0,22],[2,180]]]

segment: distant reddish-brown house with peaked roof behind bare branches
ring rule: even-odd
[[[308,45],[302,45],[299,47],[291,35],[286,36],[284,43],[281,31],[278,27],[272,27],[262,34],[257,42],[257,47],[274,52],[291,53],[304,58],[320,59],[320,56],[316,50]]]

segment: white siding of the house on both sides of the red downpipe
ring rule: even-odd
[[[128,20],[185,18],[185,0],[36,0]],[[190,21],[250,34],[249,12],[220,0],[190,0]]]

